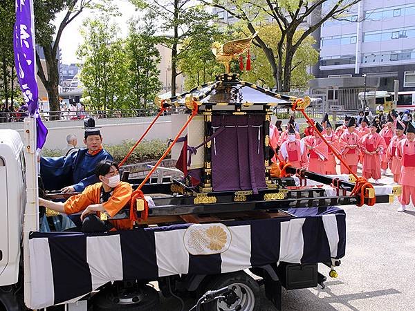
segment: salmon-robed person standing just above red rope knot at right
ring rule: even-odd
[[[363,177],[369,180],[374,178],[375,183],[378,184],[382,177],[380,171],[380,155],[386,151],[385,140],[376,133],[378,124],[374,119],[370,124],[370,133],[360,138],[359,146],[363,154]]]

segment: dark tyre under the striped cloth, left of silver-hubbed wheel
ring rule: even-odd
[[[157,290],[143,286],[136,292],[114,296],[110,290],[103,290],[95,295],[94,311],[149,311],[158,310],[160,296]]]

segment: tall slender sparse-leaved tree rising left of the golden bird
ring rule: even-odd
[[[147,2],[145,2],[147,1]],[[131,0],[139,8],[153,11],[160,19],[163,45],[172,50],[172,96],[176,95],[176,77],[181,75],[178,62],[188,48],[199,44],[201,34],[208,32],[212,15],[191,0]]]

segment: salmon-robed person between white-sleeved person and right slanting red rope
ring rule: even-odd
[[[327,150],[326,143],[320,138],[317,131],[323,130],[320,124],[316,124],[317,130],[313,131],[313,135],[306,136],[303,138],[306,149],[308,150],[308,170],[314,171],[315,173],[326,173],[324,162],[329,158],[329,152]],[[320,129],[319,129],[320,128]]]

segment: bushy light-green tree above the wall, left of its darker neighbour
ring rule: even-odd
[[[80,30],[84,43],[77,50],[82,59],[80,79],[90,107],[95,110],[121,109],[127,100],[127,59],[118,26],[109,17],[86,19]]]

